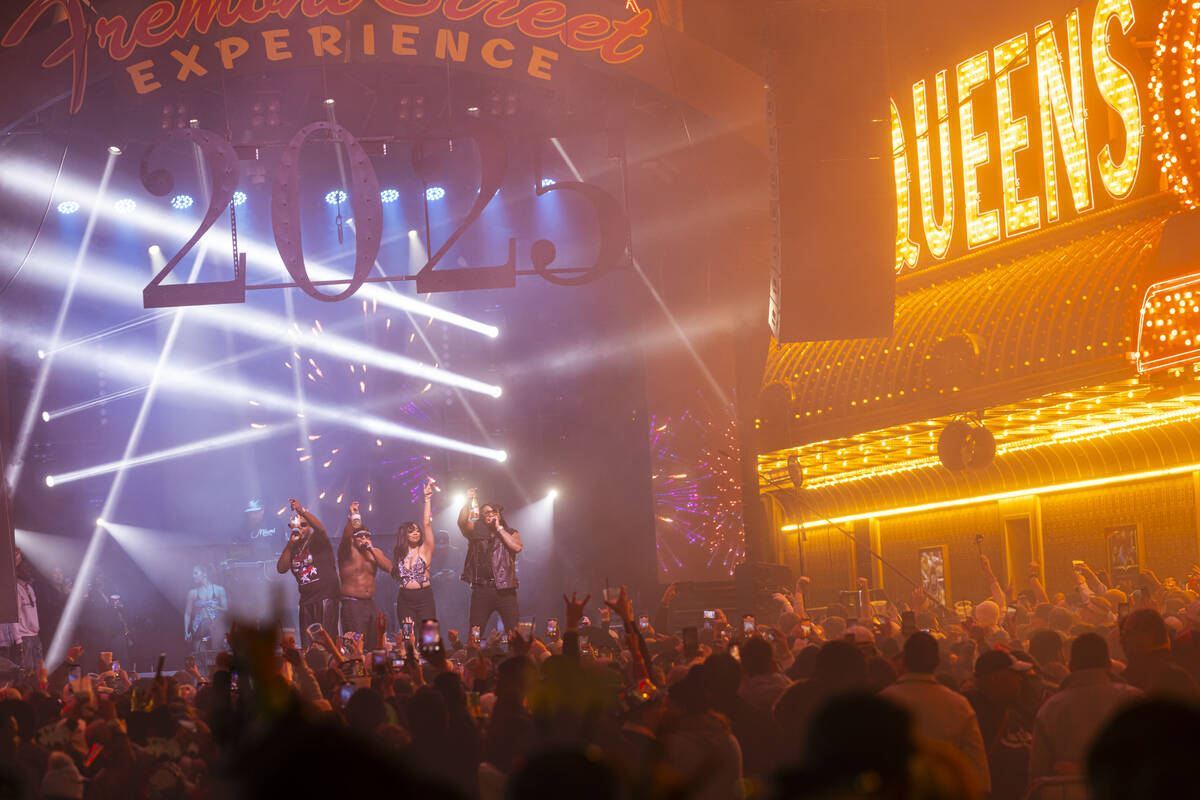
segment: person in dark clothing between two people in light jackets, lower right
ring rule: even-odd
[[[988,750],[991,798],[1018,799],[1025,794],[1033,745],[1033,718],[1021,708],[1021,687],[1033,664],[1006,650],[988,650],[976,660],[974,688],[966,698],[979,721]]]

